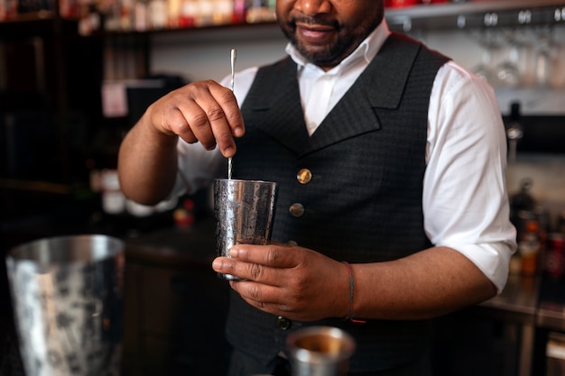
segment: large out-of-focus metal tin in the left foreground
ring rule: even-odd
[[[6,257],[27,376],[119,375],[124,243],[106,235],[52,237]]]

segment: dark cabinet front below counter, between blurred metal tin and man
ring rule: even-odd
[[[226,289],[210,270],[128,261],[124,375],[226,374]]]

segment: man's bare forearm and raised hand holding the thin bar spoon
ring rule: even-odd
[[[118,155],[120,187],[126,197],[156,205],[171,193],[177,177],[177,142],[201,142],[225,157],[236,153],[234,137],[245,126],[236,96],[214,81],[171,91],[150,105],[125,135]]]

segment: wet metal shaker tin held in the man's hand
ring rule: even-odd
[[[262,180],[217,179],[214,183],[216,252],[229,257],[236,244],[271,241],[276,183]],[[230,274],[219,274],[237,280]]]

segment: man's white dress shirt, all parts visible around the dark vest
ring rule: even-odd
[[[389,34],[387,24],[381,23],[357,50],[328,72],[310,64],[291,44],[287,46],[287,53],[298,64],[301,103],[310,135]],[[239,104],[244,102],[257,69],[236,75]],[[229,80],[222,84],[228,87]],[[205,151],[198,144],[180,141],[178,149],[174,194],[194,191],[226,168],[218,148]],[[467,256],[500,293],[516,249],[515,230],[508,221],[504,125],[493,89],[453,61],[440,68],[431,89],[426,161],[422,206],[431,243]]]

